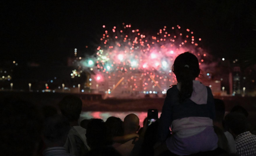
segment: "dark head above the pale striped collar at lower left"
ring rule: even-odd
[[[64,146],[70,128],[69,121],[66,117],[61,115],[48,117],[43,130],[44,143],[47,147]]]

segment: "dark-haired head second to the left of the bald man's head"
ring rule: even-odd
[[[91,119],[85,135],[87,144],[91,149],[104,147],[109,143],[107,128],[102,119]]]

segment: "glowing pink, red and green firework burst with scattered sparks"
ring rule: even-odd
[[[198,47],[201,38],[196,39],[192,31],[182,30],[179,25],[169,29],[164,26],[156,35],[143,34],[124,23],[121,29],[103,28],[96,57],[80,61],[81,66],[95,73],[97,82],[112,81],[115,77],[119,80],[126,75],[123,85],[133,91],[152,91],[157,84],[166,91],[176,81],[171,66],[179,54],[195,54],[200,65],[206,59],[205,52]]]

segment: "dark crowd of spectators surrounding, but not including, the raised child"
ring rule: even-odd
[[[219,99],[214,99],[214,102],[216,117],[213,129],[217,135],[217,147],[189,155],[255,155],[256,136],[250,132],[252,126],[247,120],[248,112],[237,105],[224,118],[224,102]],[[146,118],[143,127],[139,126],[139,118],[135,114],[128,114],[123,121],[112,116],[105,122],[102,119],[84,119],[78,123],[82,101],[73,95],[64,97],[59,109],[61,114],[53,106],[44,106],[39,111],[29,102],[4,99],[0,107],[1,155],[178,155],[166,148],[166,141],[157,144],[161,118],[149,126]],[[173,131],[169,129],[167,138],[172,135]],[[189,148],[196,148],[196,145]]]

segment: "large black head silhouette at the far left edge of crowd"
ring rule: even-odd
[[[16,98],[0,101],[0,146],[3,155],[31,156],[38,150],[42,118],[33,104]]]

